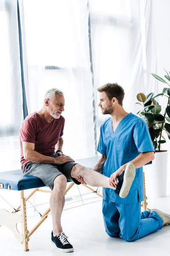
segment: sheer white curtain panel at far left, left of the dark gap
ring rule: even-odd
[[[23,120],[17,0],[0,0],[0,172],[20,169]]]

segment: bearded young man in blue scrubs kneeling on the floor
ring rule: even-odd
[[[144,195],[142,166],[154,159],[153,143],[146,122],[124,110],[125,93],[121,86],[108,83],[97,90],[102,114],[109,114],[111,118],[100,127],[97,151],[102,157],[93,170],[98,172],[104,165],[103,175],[110,178],[111,186],[116,186],[115,191],[103,188],[105,230],[111,237],[120,236],[125,241],[134,241],[161,229],[164,224],[170,224],[170,215],[158,209],[147,209],[141,215]],[[128,178],[124,170],[129,163],[136,167],[136,176],[127,197],[121,198],[118,194],[122,181]]]

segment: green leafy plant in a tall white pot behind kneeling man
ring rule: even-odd
[[[167,150],[161,149],[161,144],[166,143],[163,132],[167,133],[170,140],[170,76],[166,70],[165,72],[167,81],[156,74],[152,73],[152,75],[169,87],[165,87],[162,93],[156,96],[154,96],[154,93],[149,93],[147,96],[144,93],[138,93],[137,99],[139,102],[136,102],[136,104],[143,107],[137,114],[147,122],[156,152],[152,166],[144,167],[145,170],[148,169],[146,172],[146,186],[148,183],[148,188],[156,197],[166,196],[167,190]],[[164,100],[167,101],[163,112],[161,105],[156,101],[158,96],[164,97]]]

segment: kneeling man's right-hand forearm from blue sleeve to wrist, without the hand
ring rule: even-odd
[[[154,159],[154,152],[150,151],[150,152],[145,152],[145,153],[139,154],[139,156],[137,156],[135,159],[133,159],[132,161],[130,161],[128,163],[133,163],[135,168],[138,169],[138,168],[144,166],[146,163],[149,163],[153,159]],[[127,163],[125,165],[123,165],[124,169],[126,168],[126,166],[127,166]]]

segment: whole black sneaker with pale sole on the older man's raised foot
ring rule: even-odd
[[[128,163],[126,169],[117,178],[119,180],[115,193],[121,198],[127,197],[130,188],[132,186],[133,180],[136,175],[136,169],[133,163]]]

